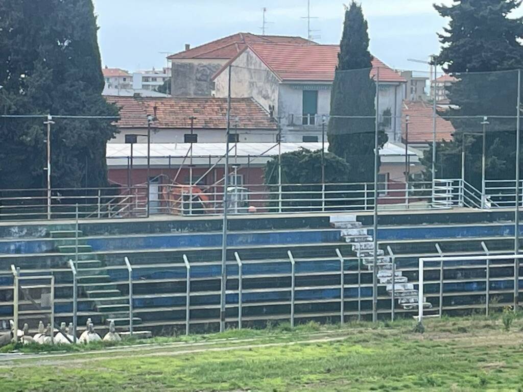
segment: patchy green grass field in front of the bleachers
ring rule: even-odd
[[[423,334],[414,326],[311,323],[3,354],[0,391],[523,390],[522,319],[508,331],[499,316],[431,319]]]

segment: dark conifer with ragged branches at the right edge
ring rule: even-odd
[[[481,185],[483,116],[487,119],[486,178],[514,179],[517,114],[517,68],[523,68],[523,19],[511,18],[520,0],[461,0],[451,6],[435,6],[449,27],[439,34],[442,49],[437,63],[458,81],[448,89],[456,129],[453,140],[436,149],[436,177],[461,176],[464,145],[466,180]],[[493,72],[495,71],[495,72]],[[469,116],[469,118],[463,118]],[[470,118],[470,116],[475,116]],[[494,116],[510,116],[501,118]],[[458,118],[460,117],[460,118]],[[470,135],[479,133],[479,135]],[[431,179],[431,149],[423,163],[425,178]]]

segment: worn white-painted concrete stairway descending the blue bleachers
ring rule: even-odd
[[[390,256],[385,256],[382,249],[374,249],[372,236],[361,222],[356,221],[356,215],[331,216],[331,226],[340,229],[342,238],[346,243],[352,245],[352,249],[358,255],[363,266],[369,271],[374,268],[374,253],[377,254],[377,276],[380,284],[385,284],[386,291],[392,295],[392,261]],[[401,271],[394,274],[394,297],[397,303],[405,310],[418,309],[418,291],[414,289],[413,283],[408,283],[406,276]],[[424,308],[431,308],[432,304],[424,298]]]

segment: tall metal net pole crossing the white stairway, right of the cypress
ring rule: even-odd
[[[380,152],[378,149],[378,132],[380,112],[380,68],[376,73],[376,121],[374,130],[374,255],[372,261],[372,322],[378,321],[378,171]]]

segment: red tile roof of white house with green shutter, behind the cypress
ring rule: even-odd
[[[282,81],[332,82],[334,80],[339,45],[249,44],[248,48]],[[233,63],[242,52],[215,73],[213,79]],[[377,68],[380,68],[380,82],[405,82],[403,76],[376,57],[372,60],[372,67],[370,72],[372,77],[376,75]]]

